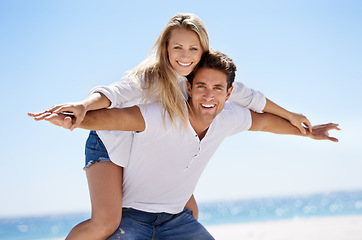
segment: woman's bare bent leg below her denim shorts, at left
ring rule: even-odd
[[[123,168],[112,162],[97,162],[86,169],[86,174],[92,216],[75,226],[66,240],[103,240],[121,222]]]

